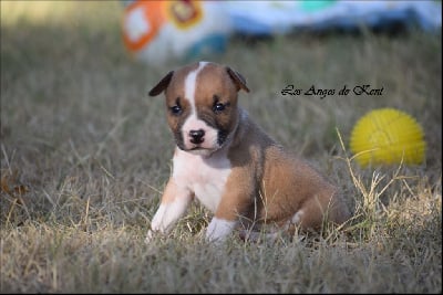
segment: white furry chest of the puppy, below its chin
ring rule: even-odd
[[[209,158],[177,150],[174,156],[173,177],[177,185],[186,187],[210,211],[215,212],[226,190],[230,161],[220,152]]]

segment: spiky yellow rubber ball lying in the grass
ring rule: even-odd
[[[361,166],[421,164],[426,144],[423,130],[410,115],[394,108],[369,112],[353,127],[350,148]]]

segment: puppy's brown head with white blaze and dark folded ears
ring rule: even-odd
[[[148,94],[165,92],[167,122],[177,146],[207,156],[219,149],[237,126],[240,89],[249,92],[240,74],[199,62],[167,73]]]

